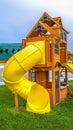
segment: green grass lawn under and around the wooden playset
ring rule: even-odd
[[[73,81],[69,81],[73,86]],[[72,87],[73,90],[73,87]],[[0,130],[73,130],[73,97],[70,95],[51,112],[35,114],[25,111],[25,101],[19,98],[19,110],[14,107],[13,94],[0,87]]]

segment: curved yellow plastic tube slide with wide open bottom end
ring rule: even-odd
[[[24,76],[24,73],[40,63],[41,59],[39,45],[28,45],[7,61],[2,78],[13,93],[27,100],[27,111],[42,114],[50,111],[49,94],[44,87],[27,80]]]

